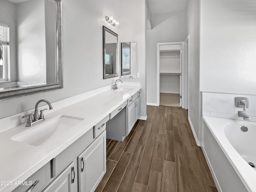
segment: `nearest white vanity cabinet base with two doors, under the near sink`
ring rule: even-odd
[[[106,122],[90,128],[13,192],[93,192],[106,173]]]

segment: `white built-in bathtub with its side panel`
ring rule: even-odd
[[[202,119],[202,150],[218,191],[256,192],[256,168],[248,164],[256,166],[256,122]]]

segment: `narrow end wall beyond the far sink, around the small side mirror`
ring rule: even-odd
[[[136,79],[122,79],[128,82],[140,82],[142,87],[140,116],[146,117],[146,0],[120,0],[120,42],[137,43],[137,72]]]

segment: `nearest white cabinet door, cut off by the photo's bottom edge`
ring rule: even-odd
[[[64,171],[62,171],[43,192],[75,192],[75,168],[72,162]]]

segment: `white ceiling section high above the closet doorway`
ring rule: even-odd
[[[163,14],[186,9],[188,0],[147,0],[152,14]]]

